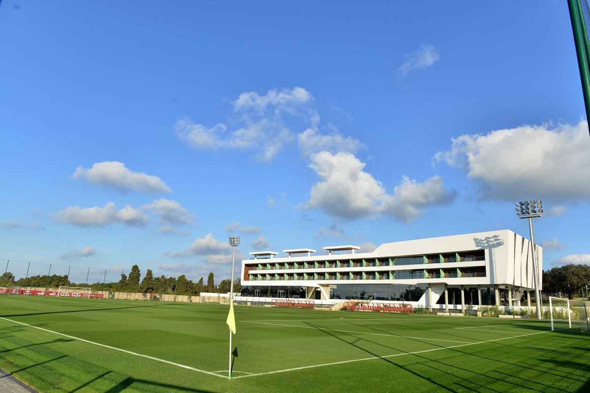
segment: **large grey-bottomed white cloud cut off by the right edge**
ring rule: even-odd
[[[435,161],[464,168],[483,199],[590,200],[588,124],[521,126],[453,138]],[[548,208],[549,206],[546,206]],[[563,212],[565,208],[560,207]],[[559,212],[556,212],[559,213]]]

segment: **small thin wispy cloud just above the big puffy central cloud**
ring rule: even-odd
[[[332,153],[338,151],[356,153],[359,148],[365,147],[358,139],[343,137],[337,132],[330,135],[319,134],[315,128],[307,128],[307,130],[299,134],[297,144],[303,156],[310,156],[322,150]]]

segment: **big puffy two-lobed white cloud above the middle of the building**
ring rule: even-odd
[[[448,204],[456,191],[444,189],[438,176],[424,183],[403,177],[394,194],[386,193],[381,181],[363,171],[365,164],[350,153],[316,153],[309,165],[321,178],[312,186],[307,209],[344,219],[387,214],[404,222],[421,216],[427,206]]]

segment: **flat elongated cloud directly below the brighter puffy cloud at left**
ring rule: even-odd
[[[113,223],[121,223],[126,226],[146,226],[150,217],[141,209],[133,209],[126,205],[119,210],[113,202],[108,202],[104,207],[68,206],[53,214],[55,222],[68,223],[76,226],[106,226]]]

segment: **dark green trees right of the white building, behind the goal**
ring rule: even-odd
[[[588,296],[586,286],[590,288],[590,266],[569,265],[553,267],[543,271],[543,292],[558,295],[561,292],[568,299]],[[584,290],[582,290],[584,289]]]

